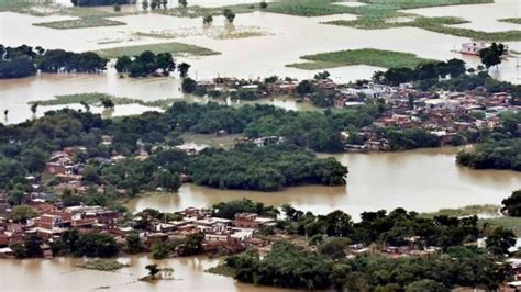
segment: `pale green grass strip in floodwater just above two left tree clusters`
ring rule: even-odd
[[[151,50],[154,54],[159,53],[171,53],[174,55],[189,54],[195,56],[209,56],[218,55],[220,53],[211,50],[206,47],[196,45],[182,44],[177,42],[162,43],[162,44],[149,44],[149,45],[137,45],[137,46],[124,46],[114,47],[97,50],[99,55],[106,58],[115,58],[119,56],[136,56],[145,50]]]

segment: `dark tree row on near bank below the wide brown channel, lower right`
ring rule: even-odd
[[[351,216],[340,210],[326,215],[303,213],[290,205],[284,205],[282,212],[287,220],[279,227],[290,234],[307,235],[311,243],[321,242],[326,237],[347,238],[351,244],[381,244],[391,246],[409,245],[406,238],[419,236],[419,246],[437,246],[447,248],[474,242],[479,236],[477,217],[422,217],[415,212],[396,209],[386,211],[364,212],[362,221],[353,223]],[[343,250],[340,250],[343,254]],[[345,257],[345,255],[343,255]]]

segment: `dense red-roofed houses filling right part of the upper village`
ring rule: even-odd
[[[320,80],[321,85],[333,82]],[[512,96],[506,92],[488,93],[485,90],[466,92],[425,92],[410,83],[389,87],[366,82],[336,86],[334,106],[355,109],[370,99],[383,99],[389,110],[379,119],[357,133],[365,141],[363,145],[346,145],[347,150],[388,150],[388,142],[378,138],[375,128],[393,127],[399,131],[423,128],[440,137],[442,144],[451,144],[454,136],[464,131],[494,128],[500,124],[499,114],[519,111],[521,106],[510,103]],[[519,126],[521,131],[521,125]],[[348,133],[342,133],[343,138]]]

